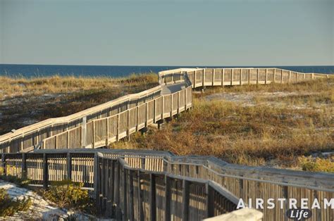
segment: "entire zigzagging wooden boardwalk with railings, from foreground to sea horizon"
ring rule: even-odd
[[[180,68],[159,72],[159,86],[0,137],[6,175],[47,187],[72,179],[95,191],[101,213],[124,220],[201,220],[235,210],[239,198],[333,198],[334,175],[231,165],[162,151],[97,149],[192,107],[192,88],[294,83],[330,75],[277,68]],[[300,206],[300,203],[298,204]],[[113,208],[113,210],[112,210]],[[111,213],[109,213],[111,211]],[[286,209],[261,209],[286,220]],[[310,220],[333,220],[314,209]]]

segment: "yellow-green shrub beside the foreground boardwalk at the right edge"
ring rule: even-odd
[[[302,167],[302,170],[312,171],[312,172],[334,172],[334,158],[323,159],[311,157],[299,157],[298,163]]]

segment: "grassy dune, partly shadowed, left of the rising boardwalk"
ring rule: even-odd
[[[154,73],[111,77],[0,77],[0,134],[158,85]]]

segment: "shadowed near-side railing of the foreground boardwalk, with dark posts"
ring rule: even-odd
[[[215,182],[168,172],[167,156],[125,150],[4,153],[1,166],[6,175],[45,188],[63,179],[94,187],[99,212],[117,220],[202,220],[236,209],[238,199]]]

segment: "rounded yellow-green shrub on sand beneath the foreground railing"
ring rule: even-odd
[[[56,203],[60,208],[75,208],[94,214],[94,201],[89,197],[88,191],[82,187],[83,184],[74,183],[67,179],[51,182],[51,187],[47,191],[42,191],[42,196]]]

